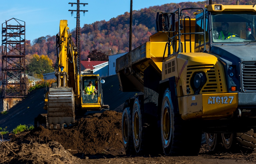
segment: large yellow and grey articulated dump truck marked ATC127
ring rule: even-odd
[[[194,13],[195,19],[184,15]],[[256,148],[256,5],[156,14],[157,33],[116,59],[127,154]]]

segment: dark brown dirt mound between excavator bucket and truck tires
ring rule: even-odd
[[[122,113],[104,111],[97,115],[81,118],[72,127],[61,130],[48,130],[40,126],[26,134],[16,136],[11,142],[48,144],[57,141],[76,156],[105,153],[123,155]]]

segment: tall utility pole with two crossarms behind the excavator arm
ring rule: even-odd
[[[68,3],[71,4],[71,7],[73,5],[77,5],[77,10],[68,10],[71,11],[71,16],[73,16],[73,12],[77,12],[77,27],[76,27],[76,47],[77,47],[77,66],[78,66],[78,73],[81,75],[81,62],[80,62],[80,11],[83,11],[83,16],[84,13],[87,12],[88,10],[80,10],[80,5],[88,5],[88,3],[80,3],[80,0],[77,0],[77,3]]]

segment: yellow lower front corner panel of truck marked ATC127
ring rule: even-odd
[[[238,108],[238,93],[201,94],[178,97],[182,119],[221,119]]]

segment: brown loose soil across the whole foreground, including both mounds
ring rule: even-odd
[[[11,134],[0,144],[1,163],[255,163],[256,153],[211,153],[202,145],[198,156],[126,156],[122,143],[122,113],[104,111],[61,130],[40,126]],[[189,146],[189,145],[188,145]],[[185,147],[184,147],[185,149]]]

